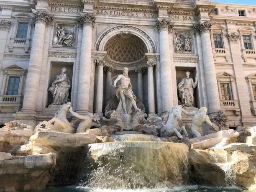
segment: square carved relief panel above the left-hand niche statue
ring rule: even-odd
[[[54,33],[54,45],[55,46],[74,46],[74,26],[61,26],[57,25]]]

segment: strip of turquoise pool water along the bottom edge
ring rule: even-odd
[[[56,187],[54,189],[31,190],[30,192],[246,192],[238,187],[201,187],[184,186],[173,189],[90,189],[87,187]]]

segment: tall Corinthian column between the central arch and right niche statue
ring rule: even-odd
[[[168,39],[168,28],[171,26],[171,20],[159,19],[157,28],[159,29],[160,44],[160,78],[161,78],[161,99],[162,111],[166,112],[172,107],[172,73],[170,61],[170,49]]]

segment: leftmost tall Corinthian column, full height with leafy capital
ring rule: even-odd
[[[28,64],[28,74],[24,92],[23,108],[21,109],[22,111],[36,110],[36,99],[39,91],[45,28],[46,25],[50,25],[53,21],[53,18],[49,17],[47,11],[32,9],[32,13],[35,15],[35,31]]]

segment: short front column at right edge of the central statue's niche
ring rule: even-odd
[[[154,62],[147,62],[148,66],[148,116],[156,115],[155,111],[155,90],[154,90]]]

